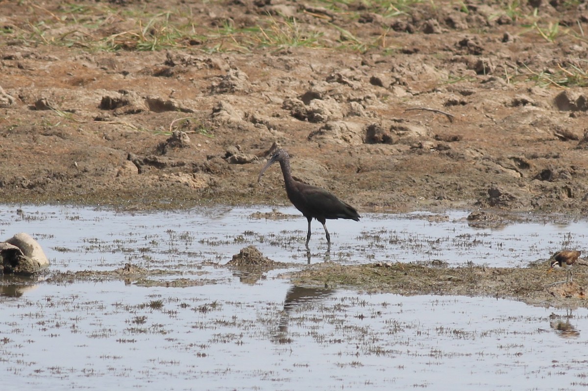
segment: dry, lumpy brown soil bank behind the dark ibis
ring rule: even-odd
[[[360,212],[584,213],[588,6],[503,3],[0,0],[0,197],[288,204],[277,168],[257,183],[277,143]],[[167,11],[200,37],[237,32],[96,45],[155,36],[136,15]],[[256,26],[320,44],[246,47]]]

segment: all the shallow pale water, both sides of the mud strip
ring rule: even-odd
[[[241,282],[225,264],[254,244],[308,262],[306,221],[254,218],[270,208],[121,213],[0,209],[0,237],[34,235],[51,271],[126,262],[188,278],[186,288],[125,281],[2,281],[2,384],[22,389],[583,389],[588,311],[463,296],[365,295],[291,286],[284,270]],[[466,213],[367,214],[329,221],[330,259],[517,267],[582,247],[584,221],[473,228]],[[430,222],[429,220],[433,220]],[[435,222],[436,221],[436,222]],[[314,223],[311,262],[326,242]]]

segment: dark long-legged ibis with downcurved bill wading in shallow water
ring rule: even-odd
[[[261,177],[263,173],[265,173],[265,170],[276,161],[279,161],[280,167],[282,167],[282,174],[284,176],[288,198],[292,201],[292,204],[294,204],[296,209],[302,212],[308,220],[306,248],[308,248],[308,242],[310,241],[310,221],[312,221],[313,218],[320,221],[320,224],[325,228],[328,248],[330,248],[330,235],[327,226],[325,225],[326,219],[350,218],[351,220],[359,221],[361,216],[358,214],[358,211],[356,211],[351,205],[340,201],[335,195],[329,193],[329,191],[294,180],[294,178],[292,178],[292,173],[290,173],[290,156],[288,152],[283,149],[275,151],[265,167],[262,168],[259,173],[258,182],[261,181]]]

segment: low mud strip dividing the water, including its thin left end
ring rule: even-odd
[[[299,264],[266,262],[263,268],[240,265],[210,265],[215,269],[234,272],[244,284],[258,284],[267,278],[290,281],[293,286],[318,289],[350,289],[362,294],[391,293],[397,295],[454,295],[480,296],[496,299],[513,299],[534,306],[554,308],[588,308],[584,281],[588,278],[587,265],[574,269],[574,280],[564,281],[565,272],[547,274],[545,262],[526,268],[495,268],[484,266],[448,267],[447,265],[402,264],[377,262],[376,264],[340,265],[324,262],[300,268]],[[271,273],[277,269],[279,274]],[[268,272],[269,277],[268,277]],[[127,285],[143,287],[188,288],[226,284],[228,279],[213,278],[207,271],[198,277],[179,276],[176,272],[147,270],[125,265],[112,271],[51,272],[45,271],[35,278],[5,277],[4,288],[15,286],[61,285],[75,282],[123,281]],[[552,285],[554,282],[560,284]],[[7,291],[7,292],[8,292]]]

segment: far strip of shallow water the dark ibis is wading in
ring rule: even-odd
[[[246,245],[281,262],[308,262],[306,219],[293,207],[280,208],[288,218],[256,218],[269,207],[199,208],[191,211],[126,213],[75,207],[0,209],[0,238],[25,231],[46,249],[53,267],[76,271],[112,269],[125,262],[142,267],[190,271],[202,261],[229,261]],[[427,219],[446,216],[446,221]],[[450,265],[472,262],[492,267],[521,267],[549,258],[560,248],[582,248],[588,222],[559,219],[475,228],[464,211],[437,215],[363,214],[360,222],[329,220],[331,261],[418,262],[441,260]],[[440,219],[440,220],[443,220]],[[311,262],[322,262],[326,240],[322,226],[312,224]]]

